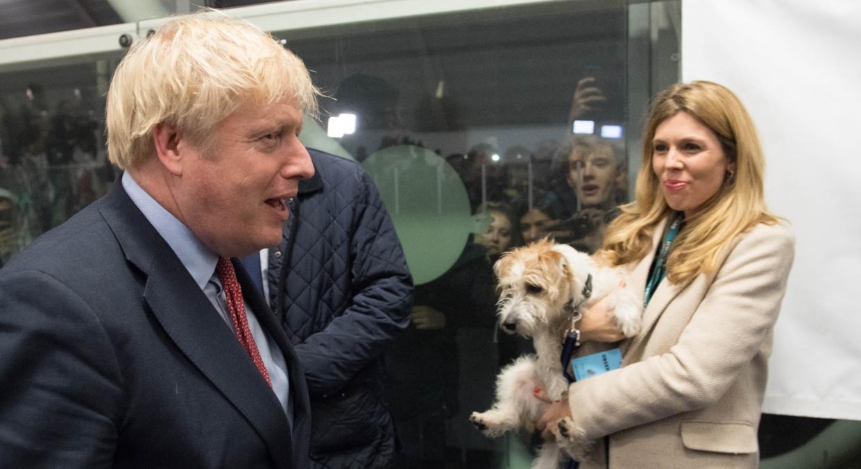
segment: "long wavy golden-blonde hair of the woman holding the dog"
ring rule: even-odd
[[[735,169],[697,215],[685,220],[684,229],[673,242],[666,275],[677,284],[714,273],[721,250],[753,225],[777,223],[777,217],[765,207],[765,157],[744,105],[720,84],[678,83],[653,98],[643,134],[635,201],[623,206],[623,213],[607,227],[601,258],[611,265],[641,260],[653,249],[656,225],[672,215],[652,170],[652,139],[661,122],[680,112],[690,114],[715,133]]]

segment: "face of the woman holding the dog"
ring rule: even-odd
[[[655,129],[652,151],[652,170],[664,199],[685,219],[717,194],[730,166],[715,133],[684,111]]]

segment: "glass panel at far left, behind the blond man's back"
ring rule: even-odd
[[[0,71],[0,262],[108,191],[100,54]]]

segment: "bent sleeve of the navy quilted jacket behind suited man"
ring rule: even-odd
[[[330,191],[325,196],[327,207],[300,202],[297,243],[309,242],[308,231],[302,232],[306,229],[303,220],[309,217],[321,225],[317,236],[326,239],[308,251],[296,246],[290,262],[306,275],[311,274],[307,265],[323,266],[322,275],[316,271],[311,275],[320,283],[307,288],[305,296],[295,295],[300,307],[315,312],[309,318],[311,324],[306,325],[310,329],[305,333],[310,334],[303,337],[300,332],[301,342],[295,349],[306,373],[308,391],[322,397],[340,392],[363,367],[380,357],[406,329],[412,305],[412,277],[381,196],[370,176],[355,163],[337,163],[340,170],[345,164],[352,165],[349,176],[337,185],[327,181],[333,186],[325,189]],[[319,170],[329,175],[334,172],[325,167]],[[323,212],[330,213],[331,220],[321,224]],[[319,244],[329,245],[331,252],[314,251]],[[338,261],[303,261],[303,256],[334,256]],[[288,279],[292,275],[288,273]],[[294,314],[293,309],[288,313]]]

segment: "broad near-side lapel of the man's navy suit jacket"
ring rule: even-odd
[[[275,393],[261,379],[245,349],[177,255],[119,182],[105,199],[100,209],[102,216],[114,231],[127,260],[146,275],[144,299],[158,323],[189,361],[257,429],[276,464],[287,469],[292,445],[285,445],[284,440],[290,429]],[[243,275],[246,285],[251,285],[245,271]],[[291,386],[292,378],[291,370]]]

